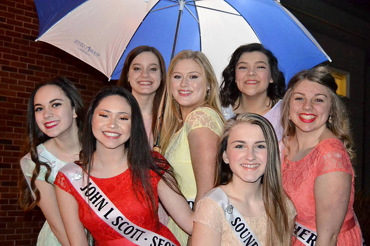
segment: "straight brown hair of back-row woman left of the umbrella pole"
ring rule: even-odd
[[[158,49],[151,47],[151,46],[147,46],[147,45],[138,46],[132,49],[132,51],[130,51],[130,53],[128,53],[127,55],[127,58],[122,68],[120,80],[118,80],[117,82],[117,86],[122,86],[129,92],[132,92],[131,85],[128,82],[128,70],[130,69],[131,63],[135,59],[135,57],[140,55],[142,52],[152,52],[155,56],[157,56],[159,60],[159,66],[161,68],[161,83],[159,84],[159,87],[157,91],[155,92],[153,108],[152,108],[152,127],[151,128],[152,128],[153,138],[155,139],[154,135],[155,135],[155,128],[157,127],[158,110],[159,108],[161,108],[160,103],[161,103],[164,88],[166,86],[166,65],[164,63],[163,56],[158,51]]]

